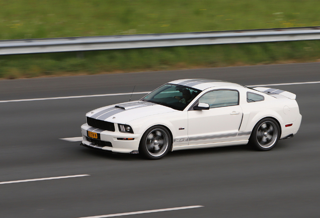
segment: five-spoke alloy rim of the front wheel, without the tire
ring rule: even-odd
[[[152,129],[146,137],[145,145],[151,156],[161,156],[168,150],[169,136],[163,129]]]

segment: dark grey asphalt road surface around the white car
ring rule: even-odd
[[[174,79],[243,85],[320,81],[320,63],[0,81],[0,100],[151,91]],[[270,86],[272,87],[272,86]],[[271,151],[231,146],[161,160],[114,155],[78,137],[85,114],[130,95],[0,103],[0,217],[83,217],[202,205],[126,217],[320,217],[320,83],[297,95],[298,134]],[[142,95],[134,94],[131,100]],[[71,175],[90,176],[2,184]]]

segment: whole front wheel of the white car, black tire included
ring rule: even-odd
[[[147,159],[161,159],[169,152],[170,147],[169,131],[162,126],[153,126],[143,134],[139,145],[139,153]]]

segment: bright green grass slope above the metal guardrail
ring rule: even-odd
[[[0,39],[320,26],[318,0],[1,0]]]

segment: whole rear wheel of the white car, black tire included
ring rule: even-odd
[[[280,128],[272,118],[265,118],[259,121],[252,131],[249,143],[258,150],[271,150],[278,142]]]

